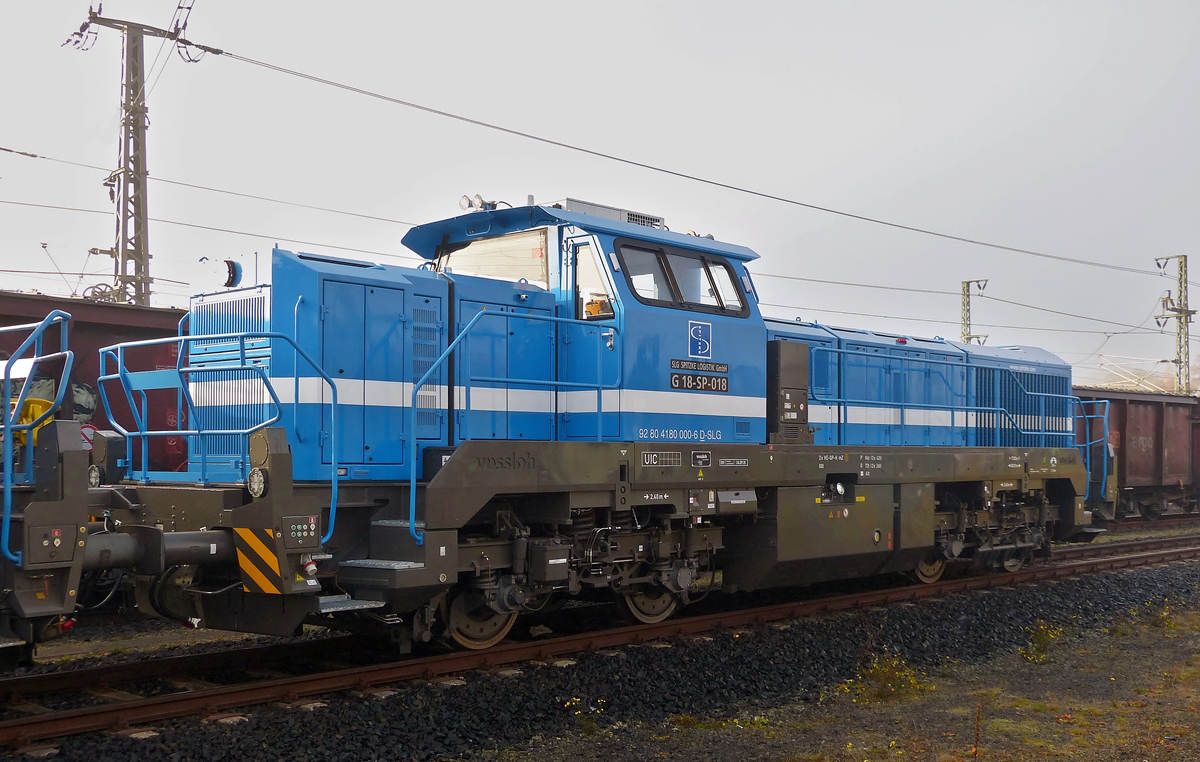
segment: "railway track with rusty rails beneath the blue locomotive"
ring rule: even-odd
[[[298,703],[324,694],[380,690],[413,679],[432,679],[469,670],[491,670],[530,660],[548,660],[574,653],[644,643],[665,637],[796,619],[836,611],[936,598],[949,593],[1007,587],[1085,574],[1134,569],[1200,558],[1200,535],[1159,538],[1056,550],[1052,560],[1014,572],[943,580],[881,590],[858,592],[799,602],[774,604],[738,611],[679,617],[654,625],[634,625],[580,635],[499,646],[482,652],[454,652],[386,664],[334,668],[312,674],[281,677],[234,685],[179,680],[180,690],[142,697],[110,686],[148,679],[170,679],[200,670],[262,670],[300,656],[318,658],[330,641],[293,643],[203,656],[131,662],[0,680],[0,701],[10,709],[25,707],[30,716],[0,721],[0,745],[24,748],[35,742],[96,731],[127,731],[137,726],[187,715],[227,716],[230,710],[266,702]],[[1063,563],[1066,562],[1066,563]],[[34,697],[55,691],[79,691],[88,685],[103,700],[97,706],[66,710],[37,708]]]

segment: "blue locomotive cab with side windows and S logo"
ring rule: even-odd
[[[554,316],[572,320],[558,324],[548,370],[547,356],[532,344],[505,359],[509,414],[548,407],[553,426],[496,438],[766,440],[766,328],[744,266],[757,258],[752,251],[671,233],[649,215],[572,199],[420,226],[404,244],[455,281],[456,304],[475,288],[456,280],[470,275],[545,289],[553,294]],[[472,310],[456,316],[458,326]],[[476,352],[470,342],[473,373],[500,370],[500,347]],[[514,394],[517,366],[530,380],[556,380],[552,404],[532,383]],[[456,442],[488,438],[490,431],[473,428]]]

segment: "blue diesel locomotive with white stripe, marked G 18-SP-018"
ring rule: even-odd
[[[764,318],[749,248],[577,202],[403,242],[426,263],[276,250],[270,284],[193,298],[175,367],[139,360],[163,341],[103,349],[106,408],[134,426],[55,514],[82,550],[6,545],[6,574],[70,592],[121,568],[204,626],[486,648],[562,595],[656,622],[716,584],[932,581],[1087,530],[1093,448],[1045,352]],[[164,395],[185,413],[151,430]],[[157,437],[186,468],[154,470]],[[5,530],[29,547],[48,524],[22,500]]]

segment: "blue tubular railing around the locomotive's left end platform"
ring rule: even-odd
[[[337,385],[334,379],[317,364],[312,356],[308,355],[290,336],[286,334],[280,334],[276,331],[253,331],[242,334],[209,334],[202,336],[174,336],[167,338],[148,338],[144,341],[133,341],[121,344],[113,344],[110,347],[104,347],[100,350],[100,377],[96,379],[96,384],[100,388],[100,398],[104,403],[104,414],[108,416],[109,422],[118,433],[130,438],[139,439],[142,443],[142,475],[149,476],[149,437],[178,437],[178,436],[191,436],[196,437],[200,446],[200,480],[202,482],[206,479],[208,468],[208,456],[205,451],[205,438],[217,437],[217,436],[236,436],[242,438],[242,446],[248,448],[250,434],[270,426],[280,420],[282,415],[282,403],[280,402],[278,395],[275,392],[275,388],[271,385],[270,378],[266,376],[266,371],[259,364],[251,362],[246,354],[246,342],[252,340],[280,340],[286,341],[295,350],[296,355],[302,358],[319,376],[329,384],[331,390],[331,409],[330,409],[330,449],[331,449],[331,468],[332,478],[330,480],[330,506],[329,506],[329,526],[326,527],[324,536],[322,536],[322,545],[326,544],[334,536],[334,528],[337,521],[337,485],[338,485],[338,464],[337,464]],[[238,342],[238,354],[236,359],[240,365],[214,365],[214,366],[202,366],[202,367],[184,367],[184,358],[190,350],[191,344],[196,342],[211,342],[211,341],[236,341]],[[125,365],[125,352],[126,349],[136,349],[140,347],[154,347],[161,344],[176,343],[179,346],[179,360],[175,364],[175,373],[178,376],[176,383],[164,386],[148,386],[148,388],[160,388],[169,389],[175,388],[181,390],[184,400],[187,403],[188,420],[192,421],[196,428],[184,430],[176,427],[167,431],[149,431],[146,428],[146,396],[145,391],[138,389],[139,397],[142,400],[142,408],[134,403],[133,395],[130,388],[130,371]],[[108,362],[114,364],[114,372],[108,372]],[[299,371],[299,368],[296,368]],[[256,424],[248,428],[212,428],[205,430],[199,422],[199,419],[192,414],[196,407],[194,400],[192,400],[191,391],[188,389],[188,376],[196,373],[230,373],[230,372],[251,372],[257,376],[266,389],[266,392],[271,397],[271,403],[275,407],[275,414],[271,415],[263,422]],[[152,371],[146,371],[152,372]],[[108,392],[104,388],[106,382],[118,380],[121,383],[122,391],[125,392],[125,398],[130,404],[130,409],[133,414],[134,428],[137,431],[131,432],[121,426],[116,418],[113,415],[112,406],[108,401]],[[182,410],[180,410],[180,418],[182,420]]]

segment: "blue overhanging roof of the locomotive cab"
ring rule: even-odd
[[[605,217],[566,211],[552,206],[517,206],[493,211],[473,211],[457,217],[419,224],[404,234],[402,242],[426,259],[437,256],[444,244],[461,244],[485,235],[503,235],[547,224],[574,224],[590,233],[608,233],[622,238],[654,241],[668,246],[682,246],[707,251],[730,259],[751,262],[758,258],[752,250],[736,244],[714,241],[671,230],[660,230],[643,224],[630,224]]]

